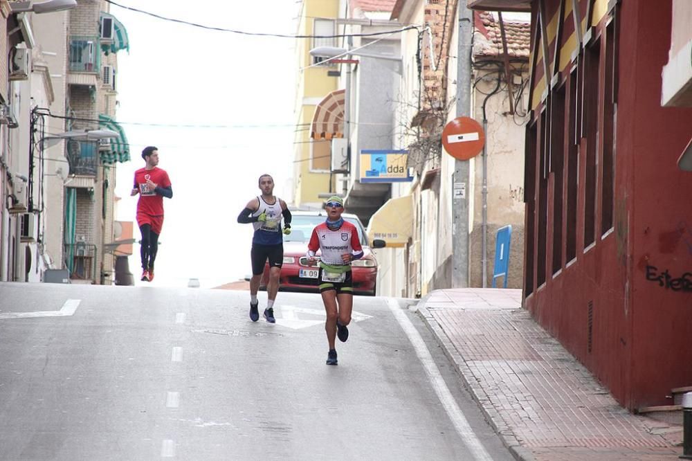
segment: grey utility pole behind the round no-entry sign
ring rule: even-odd
[[[457,3],[459,46],[457,48],[457,117],[471,116],[471,35],[473,12],[466,1]],[[452,185],[452,287],[468,287],[468,160],[454,161]]]

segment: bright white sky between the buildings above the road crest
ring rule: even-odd
[[[206,26],[296,33],[293,0],[118,3]],[[251,272],[252,226],[237,224],[236,217],[260,193],[258,177],[272,174],[275,195],[286,201],[293,192],[295,39],[203,30],[113,5],[111,13],[127,28],[130,44],[129,54],[118,54],[117,119],[125,127],[131,161],[118,164],[116,195],[122,200],[116,219],[135,220],[132,178],[144,166],[143,147],[155,145],[174,195],[164,199],[154,284],[185,287],[188,279],[199,278],[201,287],[215,287],[243,278]],[[135,237],[140,237],[138,228]],[[134,251],[129,265],[137,278],[138,245]]]

